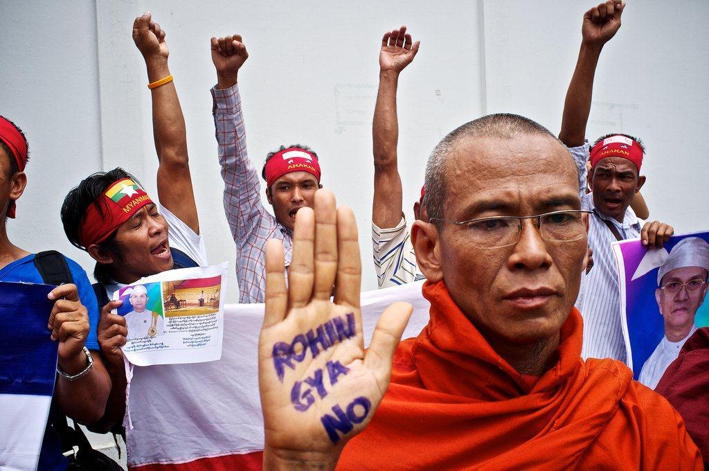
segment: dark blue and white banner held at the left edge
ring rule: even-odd
[[[53,288],[0,282],[0,470],[38,465],[57,368]]]

